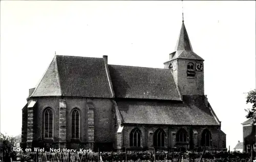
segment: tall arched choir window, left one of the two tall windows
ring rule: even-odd
[[[44,137],[53,137],[53,113],[50,108],[47,108],[44,112]]]

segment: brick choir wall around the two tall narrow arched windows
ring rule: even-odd
[[[44,110],[50,107],[53,110],[54,126],[53,126],[53,140],[47,140],[47,146],[60,146],[59,142],[67,143],[61,145],[68,148],[91,148],[94,143],[112,143],[114,142],[114,121],[113,121],[113,104],[109,99],[77,99],[77,98],[37,98],[36,107],[34,109],[33,118],[33,141],[42,142],[43,140],[43,120]],[[60,102],[63,102],[60,104]],[[66,107],[61,108],[60,105]],[[71,111],[73,108],[79,109],[80,112],[80,140],[71,139]],[[63,111],[65,109],[65,111]],[[65,113],[64,119],[63,113]],[[26,124],[27,124],[27,109],[23,110],[23,141],[26,142]],[[62,125],[60,129],[60,125]],[[65,131],[63,129],[66,129]],[[66,134],[66,136],[63,136]]]

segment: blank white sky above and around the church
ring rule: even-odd
[[[245,92],[255,88],[255,1],[183,1],[205,95],[227,148],[243,141]],[[109,64],[163,68],[182,24],[181,1],[1,1],[1,132],[22,132],[22,108],[54,54],[108,55]]]

